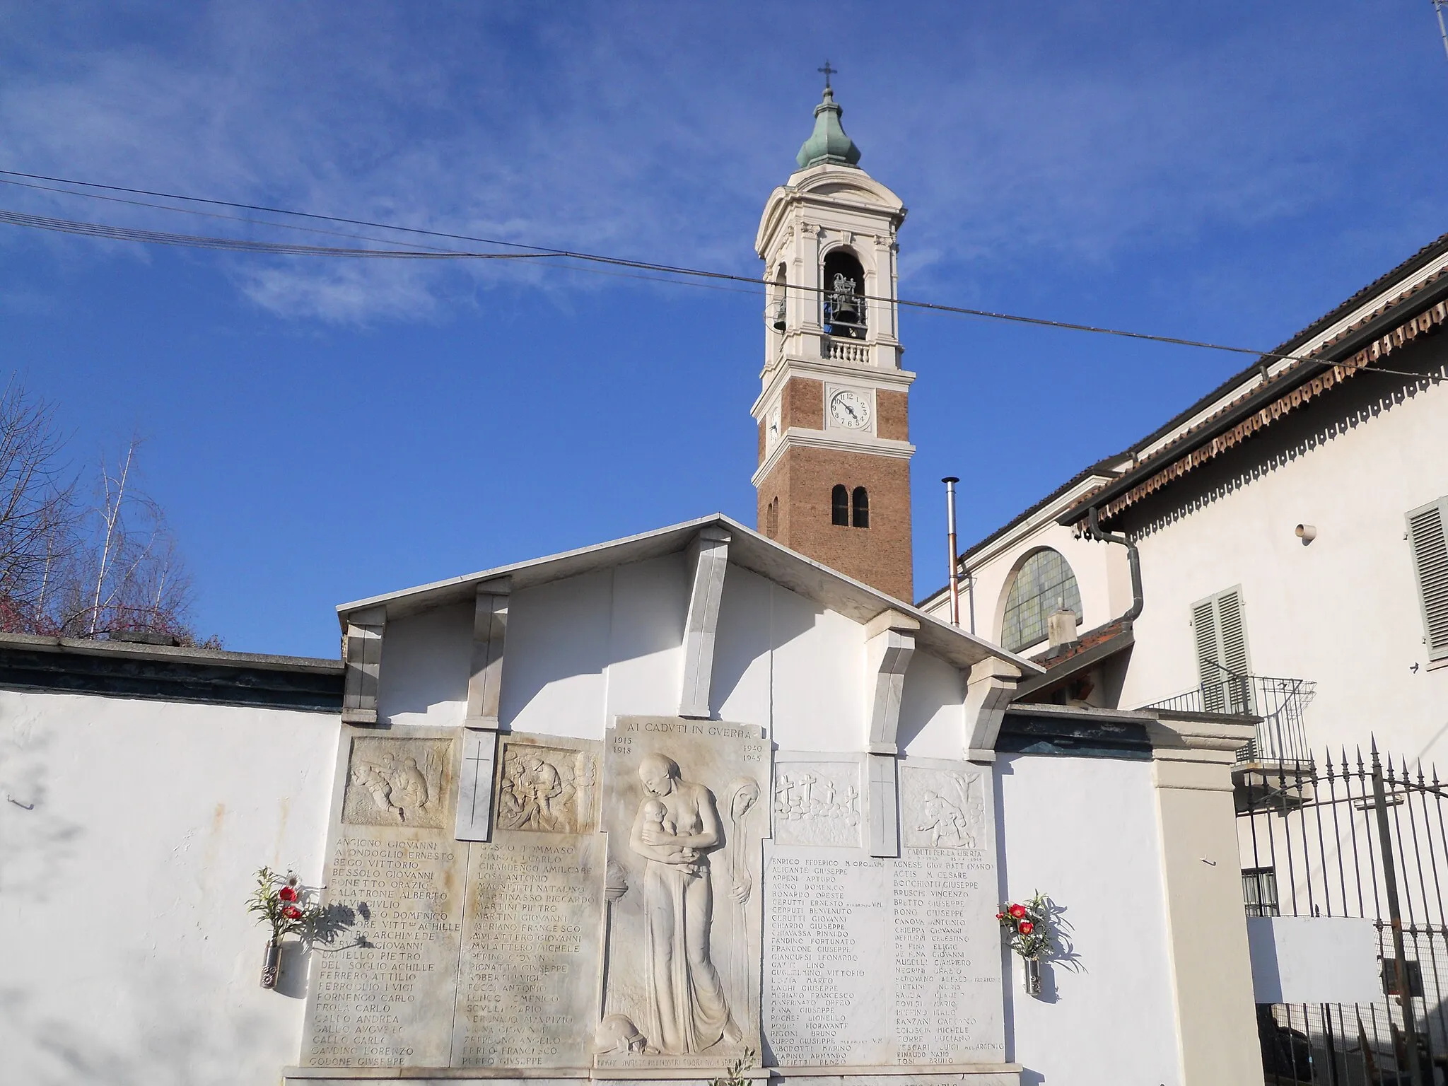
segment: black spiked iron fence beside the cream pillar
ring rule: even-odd
[[[1436,770],[1374,747],[1239,765],[1235,780],[1248,918],[1363,918],[1377,944],[1360,1002],[1258,1005],[1267,1083],[1448,1083],[1448,791]],[[1350,972],[1345,960],[1335,970],[1331,946],[1315,953],[1328,983]]]

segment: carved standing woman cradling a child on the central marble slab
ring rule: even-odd
[[[714,794],[679,779],[663,754],[639,765],[643,799],[630,847],[647,860],[643,877],[644,985],[649,1043],[662,1053],[701,1053],[743,1038],[710,959],[714,889],[708,851],[724,843]]]

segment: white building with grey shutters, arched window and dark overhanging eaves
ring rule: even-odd
[[[1019,701],[1448,763],[1445,320],[1448,236],[969,547],[961,626],[1048,665]],[[1077,640],[1051,644],[1061,608]]]

